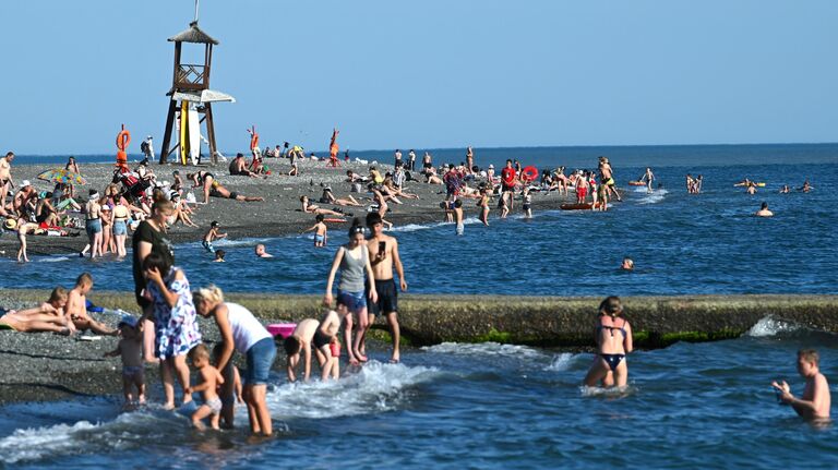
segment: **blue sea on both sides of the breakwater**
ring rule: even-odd
[[[417,149],[419,158],[423,152]],[[430,152],[438,164],[465,159],[465,149]],[[592,169],[604,155],[623,202],[604,213],[537,209],[531,219],[516,213],[501,220],[493,210],[489,227],[472,209],[463,237],[442,213],[439,222],[396,226],[391,233],[399,240],[410,292],[838,293],[838,144],[475,153],[479,166],[511,158],[539,170]],[[392,154],[351,152],[380,162],[391,162]],[[65,159],[21,156],[15,164]],[[628,186],[647,166],[657,176],[654,191]],[[687,194],[687,173],[703,176],[701,194]],[[734,186],[744,178],[765,185],[749,195]],[[813,188],[807,193],[798,190],[805,180]],[[785,184],[788,194],[779,193]],[[753,215],[763,202],[774,217]],[[325,249],[306,236],[223,240],[216,246],[228,253],[224,264],[212,263],[200,243],[183,243],[176,264],[195,286],[321,294],[345,237],[332,230]],[[256,243],[275,257],[254,260]],[[619,268],[625,256],[634,272]],[[107,279],[106,286],[132,285],[130,261],[57,255],[25,265],[0,261],[0,286],[69,286],[81,270]],[[288,384],[277,363],[268,405],[278,432],[266,441],[243,430],[193,431],[187,410],[122,412],[119,396],[84,397],[1,407],[0,461],[9,468],[836,468],[836,427],[800,420],[769,386],[782,378],[802,393],[795,351],[803,347],[819,350],[822,371],[838,383],[835,335],[768,315],[738,339],[632,353],[630,386],[619,393],[579,386],[589,353],[442,344],[407,348],[400,364],[388,364],[381,346],[367,365],[344,367],[338,382]],[[157,388],[152,393],[159,397]],[[247,423],[243,410],[237,419]]]

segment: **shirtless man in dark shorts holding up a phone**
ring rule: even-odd
[[[398,241],[395,238],[384,234],[384,222],[376,213],[367,215],[367,227],[370,229],[371,237],[367,241],[367,249],[370,253],[370,264],[372,265],[372,275],[375,280],[375,291],[379,292],[378,301],[370,303],[370,318],[368,324],[375,321],[378,314],[383,314],[390,324],[391,336],[393,337],[393,355],[391,363],[398,363],[400,330],[398,327],[398,302],[396,292],[396,282],[393,279],[393,268],[398,275],[399,287],[402,291],[407,290],[405,280],[405,269],[402,266],[402,260],[398,257]],[[366,332],[360,332],[364,335]],[[363,345],[363,339],[361,340]],[[364,352],[364,351],[361,351]]]

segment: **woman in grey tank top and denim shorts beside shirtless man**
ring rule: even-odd
[[[342,316],[346,316],[344,337],[346,339],[346,353],[349,358],[349,363],[352,365],[358,365],[359,361],[367,361],[367,357],[361,354],[360,351],[360,341],[363,339],[363,332],[367,330],[367,322],[369,320],[363,288],[364,274],[369,285],[367,294],[370,301],[375,302],[379,300],[368,251],[367,243],[363,240],[363,226],[356,218],[349,228],[349,243],[338,248],[335,258],[332,261],[328,280],[326,280],[326,296],[323,298],[323,304],[331,309],[333,300],[332,285],[335,282],[335,275],[339,268],[340,282],[337,285],[337,310]],[[352,341],[352,313],[356,314],[358,320],[358,334],[355,337],[355,341]]]

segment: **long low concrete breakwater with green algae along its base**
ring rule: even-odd
[[[25,304],[47,298],[45,290],[4,290]],[[259,317],[272,322],[318,318],[318,296],[228,293]],[[97,305],[137,313],[133,293],[95,291]],[[414,346],[444,341],[498,341],[547,347],[594,346],[599,298],[405,294],[399,298],[402,335]],[[659,348],[679,340],[738,337],[761,318],[838,332],[838,296],[684,296],[623,298],[635,345]],[[378,318],[375,329],[386,332]]]

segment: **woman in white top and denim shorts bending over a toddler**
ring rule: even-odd
[[[197,314],[213,317],[218,326],[224,350],[218,357],[216,369],[224,371],[238,350],[247,357],[248,371],[244,374],[244,402],[248,405],[250,431],[253,434],[271,435],[273,423],[265,402],[267,378],[276,358],[274,338],[259,323],[250,311],[238,303],[224,301],[224,293],[215,286],[199,289],[192,293]],[[222,396],[222,402],[229,402],[232,396]],[[230,417],[230,424],[232,424]]]

